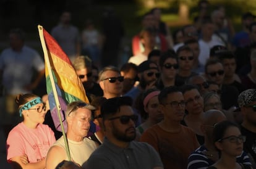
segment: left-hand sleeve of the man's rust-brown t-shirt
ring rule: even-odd
[[[140,136],[140,141],[147,142],[148,144],[150,144],[150,146],[152,146],[156,150],[156,152],[159,152],[158,141],[155,138],[155,136],[156,134],[154,134],[153,130],[147,130],[142,134],[142,136]]]

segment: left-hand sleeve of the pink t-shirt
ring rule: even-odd
[[[18,132],[10,132],[6,141],[7,160],[25,154],[22,137]]]

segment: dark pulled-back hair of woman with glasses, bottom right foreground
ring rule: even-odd
[[[231,126],[239,128],[236,123],[230,122],[229,120],[224,120],[223,122],[216,124],[213,128],[213,142],[222,139],[226,130]]]

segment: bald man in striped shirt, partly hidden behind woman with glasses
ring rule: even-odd
[[[226,116],[219,110],[208,110],[203,113],[203,123],[200,130],[204,135],[204,144],[189,155],[187,169],[207,168],[220,158],[213,142],[213,128],[224,120],[226,120]],[[236,161],[247,165],[251,164],[247,153],[244,151],[237,157]]]

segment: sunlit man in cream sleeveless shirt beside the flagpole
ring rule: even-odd
[[[79,165],[87,161],[97,147],[96,142],[85,137],[90,129],[92,110],[95,110],[92,105],[75,101],[68,104],[65,111],[70,159]],[[54,169],[62,160],[69,160],[63,136],[49,149],[46,156],[46,168]]]

